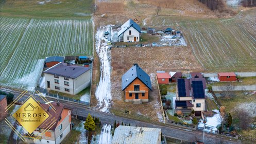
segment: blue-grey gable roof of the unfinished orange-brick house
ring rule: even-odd
[[[124,91],[124,89],[136,78],[139,78],[150,90],[152,90],[150,77],[138,64],[134,64],[122,76],[122,91]]]

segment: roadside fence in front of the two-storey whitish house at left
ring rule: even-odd
[[[36,90],[39,91],[40,93],[45,93],[46,97],[49,97],[49,98],[58,99],[58,96],[59,96],[59,100],[62,100],[62,101],[72,102],[72,103],[77,103],[77,104],[82,104],[82,105],[90,106],[90,102],[81,101],[81,100],[77,100],[77,99],[72,99],[72,98],[61,96],[61,95],[57,96],[55,94],[49,94],[47,92],[47,89],[45,89],[45,88],[37,87]]]

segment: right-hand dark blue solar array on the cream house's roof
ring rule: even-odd
[[[204,98],[202,81],[192,81],[194,98]]]

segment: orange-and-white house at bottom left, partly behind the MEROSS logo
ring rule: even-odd
[[[59,144],[72,130],[71,110],[69,108],[64,107],[64,105],[59,102],[52,102],[50,104],[53,107],[49,106],[48,104],[41,104],[40,106],[50,115],[52,115],[52,118],[46,119],[46,122],[42,123],[30,135],[28,135],[28,132],[23,131],[23,137],[26,138],[27,143]],[[53,121],[56,122],[53,123]],[[49,123],[53,123],[52,127],[50,128],[48,127]],[[47,128],[49,128],[49,130],[45,132]]]

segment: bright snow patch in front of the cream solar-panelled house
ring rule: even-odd
[[[206,128],[204,131],[209,133],[215,133],[217,132],[217,125],[221,124],[221,118],[218,110],[212,110],[216,114],[213,115],[213,117],[206,117]],[[197,128],[203,130],[203,120],[201,119],[201,122],[198,123]]]

